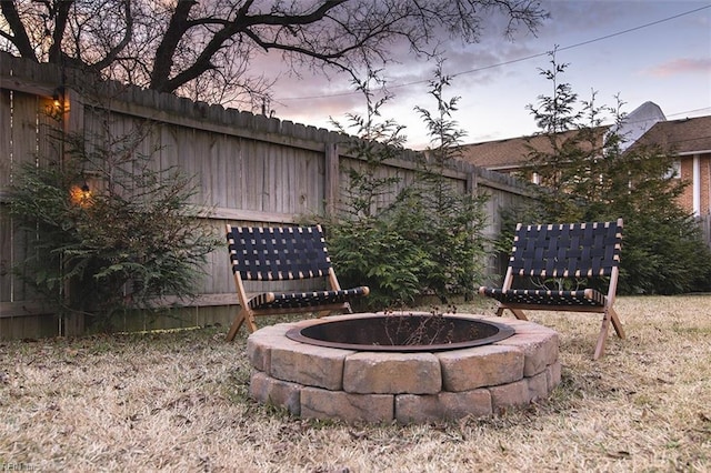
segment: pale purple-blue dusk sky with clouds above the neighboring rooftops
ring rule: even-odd
[[[561,76],[580,100],[597,91],[598,104],[614,105],[615,95],[631,112],[645,101],[657,103],[668,120],[711,114],[711,1],[552,0],[542,4],[551,18],[537,36],[520,31],[507,40],[487,23],[481,41],[450,42],[443,71],[453,77],[445,98],[461,97],[454,120],[465,143],[499,140],[538,131],[527,104],[550,95],[550,81],[539,69],[550,67],[547,52],[558,47],[557,61],[570,64]],[[434,111],[428,94],[433,62],[403,54],[385,69],[394,97],[383,119],[407,127],[407,145],[428,145],[415,105]],[[271,66],[273,68],[273,64]],[[276,69],[276,68],[274,68]],[[273,69],[272,69],[273,70]],[[362,113],[364,101],[346,76],[302,79],[280,76],[271,109],[282,120],[332,129],[329,118],[348,124],[347,113]]]

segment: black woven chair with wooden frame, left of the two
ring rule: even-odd
[[[318,312],[352,312],[349,301],[368,295],[367,286],[341,289],[326,248],[320,225],[252,228],[227,225],[230,263],[240,310],[227,334],[233,340],[247,321],[257,330],[257,315]],[[330,289],[292,292],[262,292],[248,296],[244,281],[273,282],[324,279]],[[326,285],[326,283],[324,283]]]

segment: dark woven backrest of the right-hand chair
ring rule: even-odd
[[[509,268],[539,278],[609,276],[620,263],[622,219],[617,222],[522,225]]]

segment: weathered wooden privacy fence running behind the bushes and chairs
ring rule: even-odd
[[[199,178],[196,207],[210,209],[209,225],[222,234],[224,223],[288,224],[304,215],[332,211],[347,171],[361,165],[348,154],[352,137],[276,118],[224,109],[113,82],[91,82],[84,74],[0,53],[0,340],[81,334],[81,319],[61,321],[43,308],[11,269],[22,261],[20,233],[8,212],[8,187],[22,162],[42,165],[52,152],[48,111],[63,102],[63,131],[122,137],[149,123],[140,151],[158,169],[178,167]],[[411,182],[415,151],[404,150],[379,173]],[[498,234],[500,211],[531,198],[525,184],[464,162],[444,175],[461,192],[489,195],[484,234]],[[492,265],[494,261],[492,259]],[[493,268],[493,266],[492,266]],[[176,316],[127,320],[123,330],[227,324],[237,303],[227,250],[214,251],[199,288],[200,298]],[[491,270],[492,276],[498,269]]]

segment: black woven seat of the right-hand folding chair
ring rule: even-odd
[[[605,296],[599,291],[549,291],[545,289],[482,288],[482,294],[503,304],[604,306]]]

